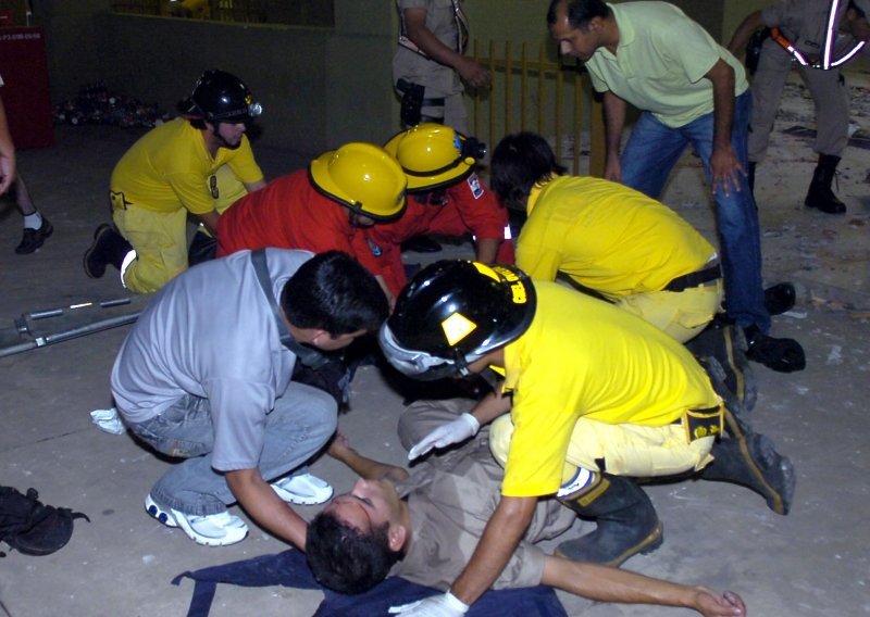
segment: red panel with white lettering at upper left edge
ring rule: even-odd
[[[0,97],[15,148],[54,143],[42,28],[0,28]]]

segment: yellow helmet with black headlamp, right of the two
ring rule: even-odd
[[[405,171],[409,192],[456,184],[471,175],[475,163],[486,156],[485,143],[434,123],[399,133],[384,149]]]

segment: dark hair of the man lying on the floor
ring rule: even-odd
[[[308,526],[306,556],[314,578],[341,593],[362,593],[384,580],[402,553],[391,551],[389,524],[359,533],[334,515],[320,513]]]

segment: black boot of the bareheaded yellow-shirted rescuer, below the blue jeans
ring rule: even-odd
[[[737,326],[713,319],[685,345],[707,370],[713,386],[721,385],[726,390],[720,396],[736,399],[747,412],[755,407],[758,387],[746,357],[746,339]],[[716,374],[710,369],[709,358],[716,361]]]

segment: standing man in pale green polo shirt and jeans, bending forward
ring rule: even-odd
[[[728,316],[746,333],[747,356],[783,373],[804,350],[767,335],[758,212],[746,178],[751,98],[741,63],[680,9],[666,2],[607,4],[552,0],[550,34],[604,93],[605,177],[658,199],[691,143],[716,200]],[[629,104],[641,110],[620,156]]]

